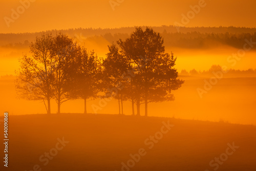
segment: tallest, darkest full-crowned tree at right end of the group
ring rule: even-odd
[[[138,27],[125,41],[120,39],[118,45],[122,55],[131,62],[137,115],[141,103],[145,103],[147,116],[148,102],[174,100],[171,91],[181,87],[184,81],[177,78],[178,72],[173,68],[176,58],[165,53],[160,33]]]

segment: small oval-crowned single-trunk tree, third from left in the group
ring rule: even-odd
[[[94,51],[78,47],[78,55],[71,60],[67,71],[70,96],[84,100],[84,114],[87,114],[87,101],[98,97],[101,88],[101,59]]]

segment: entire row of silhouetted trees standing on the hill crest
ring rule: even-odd
[[[42,34],[30,52],[20,58],[16,88],[23,98],[44,101],[48,114],[51,99],[57,102],[58,113],[63,102],[83,99],[87,113],[87,100],[108,95],[118,100],[119,114],[123,101],[129,100],[133,115],[135,104],[140,115],[144,103],[147,116],[148,103],[174,100],[172,90],[184,82],[174,68],[173,53],[165,52],[163,38],[150,28],[138,27],[129,38],[113,42],[105,58],[62,33]]]

